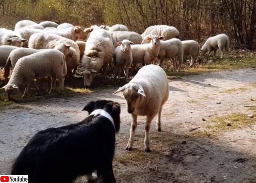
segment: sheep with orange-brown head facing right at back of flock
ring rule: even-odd
[[[46,29],[44,32],[51,33],[51,34],[57,34],[59,36],[62,36],[64,38],[68,38],[70,40],[76,41],[78,39],[86,39],[86,35],[84,34],[82,28],[75,26],[70,27],[66,29]]]

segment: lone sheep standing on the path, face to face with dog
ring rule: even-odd
[[[128,113],[131,114],[132,124],[130,138],[126,150],[132,150],[138,115],[146,115],[145,151],[150,152],[150,124],[158,114],[156,130],[161,131],[161,112],[169,97],[169,84],[162,68],[155,65],[142,67],[134,78],[113,94],[123,92]]]

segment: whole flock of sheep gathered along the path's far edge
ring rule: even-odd
[[[129,68],[136,64],[158,64],[172,59],[173,70],[182,69],[183,58],[190,55],[192,67],[199,52],[221,50],[228,52],[230,40],[225,34],[208,38],[200,50],[194,40],[180,41],[180,32],[167,25],[148,27],[143,34],[128,31],[121,24],[109,26],[91,26],[82,30],[79,26],[45,21],[37,24],[30,20],[18,22],[13,30],[0,28],[0,67],[4,68],[6,85],[2,87],[8,93],[8,99],[24,88],[25,97],[31,83],[39,90],[34,79],[50,78],[49,93],[55,90],[56,77],[59,82],[58,93],[64,88],[65,77],[72,77],[78,64],[83,67],[84,86],[89,87],[94,77],[103,70],[106,80],[108,67],[115,66],[114,78],[120,80],[124,70],[128,82]],[[23,48],[18,48],[23,47]],[[28,48],[27,48],[28,47]],[[160,62],[158,63],[158,59]],[[12,75],[8,80],[12,67]]]

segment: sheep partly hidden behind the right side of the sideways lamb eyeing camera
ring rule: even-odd
[[[142,44],[148,43],[148,38],[152,37],[152,35],[145,36],[142,40]],[[158,59],[160,59],[160,63],[158,66],[162,66],[164,59],[172,59],[173,63],[173,71],[176,70],[176,57],[179,60],[179,68],[178,72],[180,72],[183,62],[183,45],[182,42],[177,38],[172,38],[170,40],[160,41],[160,50],[158,54]]]

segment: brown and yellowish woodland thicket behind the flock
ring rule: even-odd
[[[178,28],[181,40],[225,33],[233,48],[256,49],[256,0],[0,0],[0,27],[12,29],[24,19],[83,28],[118,23],[139,33],[167,24]]]

